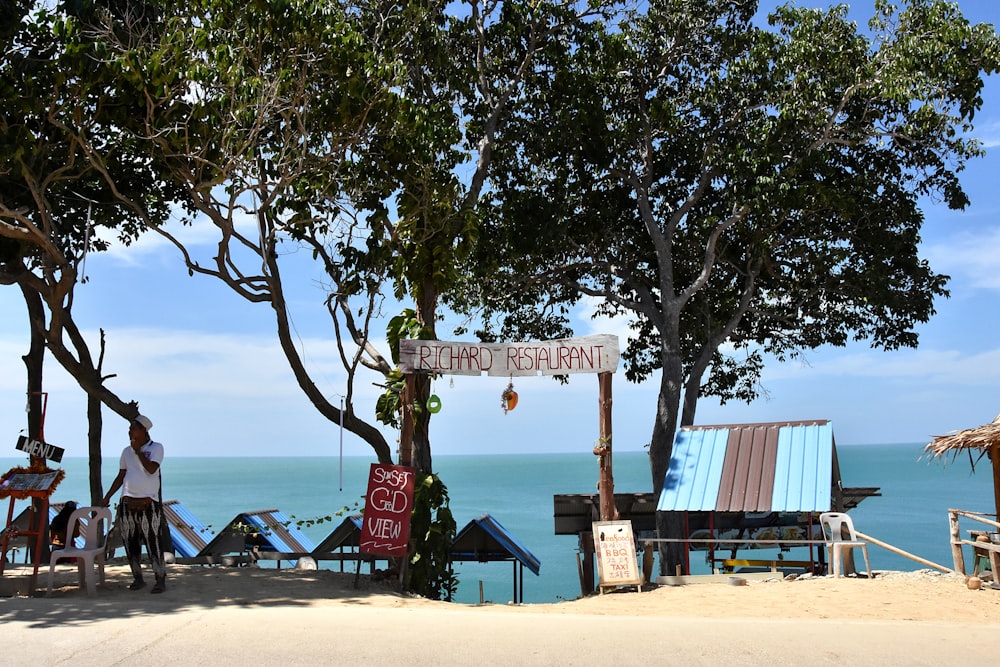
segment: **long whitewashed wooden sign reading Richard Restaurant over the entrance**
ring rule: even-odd
[[[536,343],[399,341],[399,367],[404,373],[502,377],[613,373],[619,356],[618,336],[610,334]]]

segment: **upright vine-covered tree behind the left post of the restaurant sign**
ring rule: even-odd
[[[395,295],[412,299],[414,308],[394,321],[391,339],[437,338],[441,300],[460,282],[459,267],[479,239],[476,209],[510,109],[531,94],[528,82],[543,54],[561,49],[605,11],[566,1],[467,0],[447,13],[451,9],[440,3],[420,22],[390,22],[400,34],[414,35],[401,90],[415,114],[398,156],[397,217],[386,228]],[[429,377],[415,378],[414,395],[416,406],[426,405]],[[414,459],[429,471],[431,415],[415,413]]]

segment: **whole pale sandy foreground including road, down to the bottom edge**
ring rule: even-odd
[[[933,571],[877,575],[461,605],[330,571],[180,565],[162,595],[127,590],[127,568],[110,565],[91,598],[61,565],[51,595],[0,598],[0,665],[995,662],[1000,591]]]

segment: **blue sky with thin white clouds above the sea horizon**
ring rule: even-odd
[[[826,3],[803,2],[821,6]],[[995,0],[960,0],[975,22],[1000,24]],[[865,20],[872,3],[853,3]],[[922,255],[951,276],[951,297],[918,327],[917,349],[885,352],[865,343],[823,348],[804,360],[765,369],[766,396],[751,404],[699,402],[696,422],[722,424],[829,419],[838,445],[913,443],[977,426],[1000,413],[1000,78],[987,79],[985,103],[975,118],[987,155],[968,165],[962,183],[972,201],[965,211],[923,202]],[[211,233],[184,232],[201,257],[212,256]],[[300,352],[321,391],[334,403],[345,391],[344,373],[323,308],[324,293],[308,257],[290,257],[286,272]],[[367,444],[322,418],[298,388],[264,304],[250,304],[214,279],[190,277],[177,252],[152,236],[128,249],[87,258],[87,283],[78,287],[74,314],[97,350],[107,339],[108,386],[138,400],[153,423],[154,439],[171,456],[372,456]],[[618,333],[619,322],[594,321],[581,304],[576,335]],[[25,377],[21,355],[28,332],[20,292],[0,289],[0,457],[16,456],[24,433]],[[439,326],[442,338],[457,323]],[[434,455],[589,452],[599,435],[598,382],[572,376],[515,378],[520,400],[504,413],[500,377],[444,377],[433,391],[442,409],[432,423]],[[86,397],[49,357],[45,440],[86,456]],[[364,379],[357,410],[373,414],[380,389]],[[624,373],[613,383],[612,429],[616,450],[641,451],[656,410],[656,380],[634,385]],[[104,411],[102,453],[117,457],[127,445],[127,424]],[[395,429],[384,427],[390,443]],[[3,445],[6,439],[7,445]],[[9,449],[4,453],[4,447]]]

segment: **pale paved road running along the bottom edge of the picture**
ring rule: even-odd
[[[145,597],[145,596],[144,596]],[[158,608],[159,607],[159,608]],[[998,625],[0,599],[0,665],[993,664]]]

